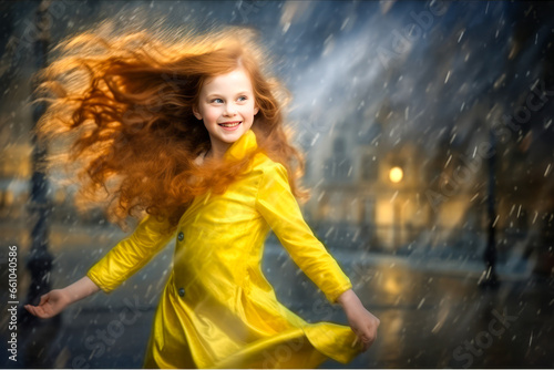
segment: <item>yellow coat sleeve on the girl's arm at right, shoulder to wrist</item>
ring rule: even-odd
[[[352,287],[348,276],[304,220],[283,164],[271,164],[264,171],[256,208],[295,264],[321,289],[330,304],[336,304],[337,298]]]

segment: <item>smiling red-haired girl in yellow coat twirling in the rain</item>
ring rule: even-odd
[[[141,222],[85,277],[27,305],[30,312],[50,318],[113,291],[175,237],[145,368],[316,368],[369,348],[379,319],[302,218],[302,158],[252,30],[177,42],[83,33],[58,50],[42,74],[53,97],[38,134],[72,146],[50,166],[81,166],[81,208],[103,196],[111,220]],[[308,323],[277,300],[260,269],[269,229],[350,328]]]

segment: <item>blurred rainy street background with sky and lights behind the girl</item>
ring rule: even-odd
[[[511,1],[0,2],[1,296],[38,304],[127,234],[34,171],[32,74],[62,38],[121,27],[247,24],[291,91],[316,236],[381,319],[367,352],[322,368],[553,367],[554,3]],[[9,296],[17,246],[17,297]],[[114,294],[54,319],[18,314],[3,368],[138,368],[173,245]],[[278,298],[347,325],[266,243]],[[136,320],[122,323],[123,310]],[[8,353],[10,315],[0,319]],[[115,323],[114,323],[115,322]],[[6,347],[6,349],[3,348]]]

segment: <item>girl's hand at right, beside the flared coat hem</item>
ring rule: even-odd
[[[352,289],[345,291],[338,302],[347,315],[350,328],[358,336],[352,346],[359,342],[361,350],[367,351],[377,338],[377,328],[381,321],[363,307]]]

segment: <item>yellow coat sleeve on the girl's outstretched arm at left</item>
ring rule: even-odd
[[[94,264],[86,276],[104,292],[113,291],[167,245],[174,233],[162,233],[165,223],[151,215],[144,217],[133,234]]]

